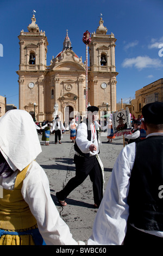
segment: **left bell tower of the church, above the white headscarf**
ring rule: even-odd
[[[47,37],[36,24],[35,15],[28,32],[21,31],[20,44],[19,108],[28,111],[37,121],[44,120],[43,84],[47,65]],[[35,104],[34,104],[35,103]]]

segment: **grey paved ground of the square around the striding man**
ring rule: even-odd
[[[49,146],[41,141],[42,135],[38,135],[42,147],[42,153],[36,161],[45,170],[51,189],[52,199],[57,206],[61,218],[70,227],[73,238],[78,241],[87,241],[91,235],[93,221],[97,209],[93,207],[92,184],[89,176],[82,185],[77,187],[66,199],[67,205],[61,207],[55,196],[75,175],[73,162],[74,144],[71,143],[70,133],[62,135],[61,143],[54,144],[54,135],[50,136]],[[100,133],[101,143],[99,144],[101,160],[104,165],[105,184],[108,183],[115,160],[123,148],[123,137],[116,137],[112,143],[107,143],[107,133]]]

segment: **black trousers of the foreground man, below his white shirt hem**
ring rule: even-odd
[[[163,237],[151,235],[140,231],[130,224],[127,226],[127,233],[124,238],[124,245],[126,246],[154,246],[161,245],[162,246]]]

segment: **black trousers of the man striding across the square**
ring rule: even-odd
[[[82,157],[74,155],[74,163],[76,164],[76,176],[68,181],[63,190],[57,193],[57,197],[59,200],[65,200],[68,194],[82,184],[89,175],[93,183],[94,202],[99,206],[103,198],[103,177],[96,156]]]

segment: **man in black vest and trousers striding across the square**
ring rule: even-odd
[[[98,162],[98,132],[95,127],[97,115],[98,107],[88,107],[87,119],[83,120],[83,123],[78,125],[76,142],[74,144],[76,176],[68,181],[63,190],[56,193],[58,201],[62,206],[67,205],[65,199],[68,194],[82,184],[88,175],[93,183],[95,207],[98,208],[101,203],[103,197],[103,175]]]

